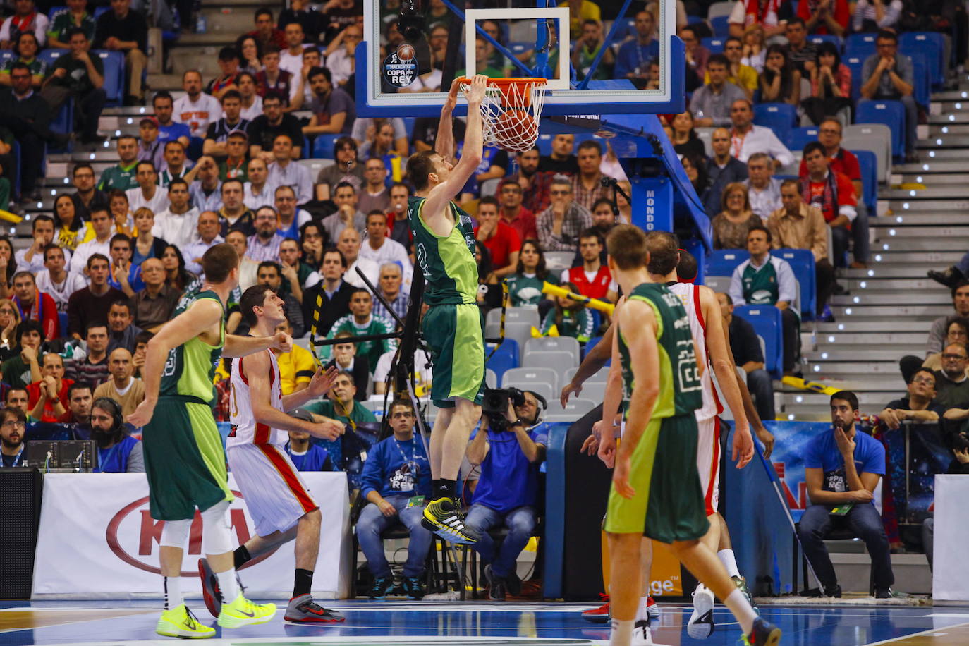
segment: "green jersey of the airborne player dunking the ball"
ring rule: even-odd
[[[414,253],[427,283],[424,302],[428,305],[476,302],[478,263],[471,216],[450,202],[454,228],[447,236],[439,236],[424,224],[423,203],[423,198],[407,200],[407,219],[414,231]]]

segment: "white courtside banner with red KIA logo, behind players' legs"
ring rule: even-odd
[[[342,473],[302,473],[323,515],[320,556],[313,577],[319,599],[342,599],[350,590],[350,506]],[[234,544],[254,536],[245,500],[235,486],[230,508]],[[148,511],[144,474],[48,474],[34,566],[34,599],[161,597],[158,543],[164,521]],[[182,576],[186,597],[201,597],[198,559],[202,517],[196,512]],[[253,598],[289,599],[296,568],[294,542],[243,566],[239,572]],[[194,579],[194,580],[193,580]]]

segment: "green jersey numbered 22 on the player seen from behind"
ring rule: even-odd
[[[642,283],[628,300],[640,300],[653,309],[656,317],[656,345],[660,358],[660,392],[653,407],[652,418],[673,415],[693,415],[703,406],[703,385],[697,369],[690,320],[679,296],[665,285]],[[622,327],[619,328],[619,354],[622,359],[623,404],[629,410],[635,380],[629,346]]]

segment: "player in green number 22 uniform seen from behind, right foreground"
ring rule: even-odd
[[[680,563],[725,600],[748,643],[774,646],[780,630],[757,616],[701,541],[709,530],[703,489],[694,475],[702,366],[686,311],[675,294],[650,281],[649,252],[640,229],[615,227],[608,248],[612,276],[627,294],[612,343],[613,365],[621,366],[626,425],[615,453],[605,526],[612,569],[610,646],[633,643],[643,535],[669,543]],[[610,371],[604,404],[611,411],[616,408],[617,374]]]

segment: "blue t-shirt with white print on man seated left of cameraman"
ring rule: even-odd
[[[391,435],[370,448],[360,474],[360,495],[366,498],[371,491],[383,498],[430,496],[430,461],[421,438],[399,442]]]

